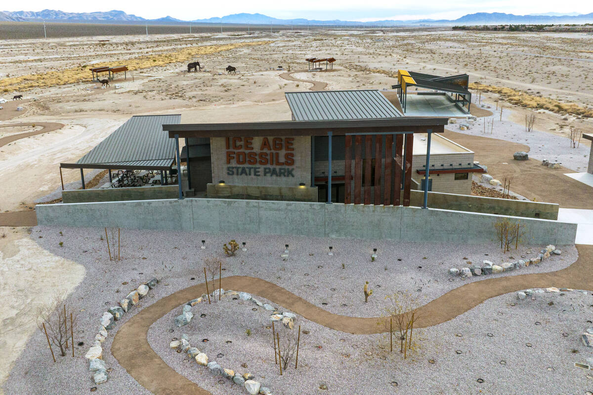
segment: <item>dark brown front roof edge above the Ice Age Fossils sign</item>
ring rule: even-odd
[[[397,117],[364,120],[272,121],[164,124],[169,137],[345,136],[351,133],[442,133],[447,117]]]

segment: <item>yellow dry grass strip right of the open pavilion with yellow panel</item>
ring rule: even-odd
[[[547,97],[539,97],[526,94],[516,89],[503,88],[502,86],[484,85],[480,82],[470,84],[470,89],[480,90],[482,92],[492,92],[499,94],[511,104],[520,105],[525,108],[534,108],[548,110],[553,113],[573,114],[585,118],[593,117],[593,109],[584,108],[575,103],[562,103]]]

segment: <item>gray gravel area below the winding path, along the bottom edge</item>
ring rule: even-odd
[[[591,357],[579,340],[579,331],[591,325],[591,303],[586,291],[492,298],[449,322],[416,330],[418,349],[406,360],[398,343],[390,352],[386,335],[336,332],[297,315],[296,328],[308,333],[301,332],[298,370],[293,362],[282,376],[273,358],[271,312],[251,301],[222,297],[197,304],[192,322],[178,328],[173,320],[180,306],[151,326],[148,340],[168,365],[214,395],[246,391],[169,348],[172,339],[187,334],[209,361],[254,374],[274,394],[585,394],[593,388],[593,373],[574,362]]]

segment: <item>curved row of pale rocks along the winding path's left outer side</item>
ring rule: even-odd
[[[107,374],[107,367],[103,361],[103,342],[109,335],[108,330],[113,329],[115,322],[119,321],[124,313],[127,313],[133,306],[148,294],[149,290],[155,288],[159,280],[153,278],[152,280],[141,284],[135,290],[130,291],[125,298],[119,301],[119,306],[110,307],[101,316],[101,326],[95,335],[93,346],[91,346],[87,354],[84,355],[88,359],[88,370],[93,374],[93,381],[95,384],[102,384],[109,380]]]

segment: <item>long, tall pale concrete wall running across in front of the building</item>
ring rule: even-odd
[[[110,226],[199,232],[238,232],[313,237],[353,237],[484,243],[496,239],[493,214],[418,207],[262,200],[143,200],[37,205],[42,226]],[[573,244],[576,224],[526,219],[524,240]]]

